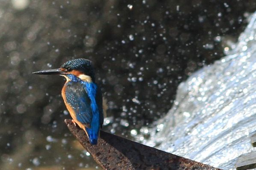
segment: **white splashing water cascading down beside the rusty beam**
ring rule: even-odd
[[[229,55],[179,85],[176,101],[139,141],[222,169],[234,169],[243,153],[255,151],[256,13]]]

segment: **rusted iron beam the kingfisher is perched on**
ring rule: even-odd
[[[98,144],[92,145],[71,120],[65,123],[104,170],[220,170],[104,131],[100,132]]]

